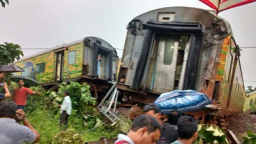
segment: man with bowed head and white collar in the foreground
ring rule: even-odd
[[[137,116],[127,135],[118,134],[114,144],[156,144],[160,138],[160,124],[145,114]]]

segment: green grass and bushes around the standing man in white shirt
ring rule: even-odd
[[[77,82],[61,84],[58,92],[44,90],[39,86],[31,87],[32,90],[39,91],[41,94],[28,96],[26,117],[41,135],[40,144],[80,144],[100,140],[103,136],[113,138],[120,133],[119,122],[107,123],[104,121],[105,117],[94,108],[93,104],[96,100],[91,97],[89,88],[87,84]],[[72,114],[68,117],[68,130],[61,131],[59,104],[62,103],[61,94],[65,90],[70,91]],[[80,98],[82,93],[86,95]],[[78,101],[77,105],[73,104],[74,101]],[[122,124],[124,129],[129,126],[129,124]]]

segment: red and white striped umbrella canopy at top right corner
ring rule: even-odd
[[[242,6],[250,2],[256,2],[256,0],[200,0],[204,4],[210,6],[214,10],[221,12],[237,6]]]

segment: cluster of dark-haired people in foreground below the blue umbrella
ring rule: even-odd
[[[136,105],[129,116],[130,131],[118,134],[114,144],[192,144],[197,139],[198,121],[178,111],[166,115],[154,104]]]

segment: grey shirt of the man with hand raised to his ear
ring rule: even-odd
[[[36,140],[36,134],[12,118],[0,118],[0,140],[1,144],[32,143]]]

